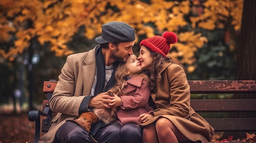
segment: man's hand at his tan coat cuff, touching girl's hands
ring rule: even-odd
[[[110,108],[108,104],[111,103],[111,99],[110,96],[106,94],[107,92],[102,92],[97,96],[92,97],[88,106],[93,108]]]

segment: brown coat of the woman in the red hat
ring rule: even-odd
[[[182,67],[165,61],[161,73],[156,90],[151,92],[156,110],[150,114],[154,117],[139,125],[145,126],[165,117],[191,141],[211,141],[214,129],[190,107],[190,88]]]

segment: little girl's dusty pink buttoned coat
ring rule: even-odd
[[[150,97],[149,83],[140,76],[132,77],[125,83],[125,92],[126,95],[121,96],[123,104],[117,111],[118,122],[121,125],[139,124],[139,115],[149,113],[153,109],[148,103]]]

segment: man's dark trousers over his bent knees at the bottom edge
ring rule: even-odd
[[[141,143],[142,129],[135,124],[121,126],[113,123],[106,126],[97,134],[99,143]],[[89,133],[73,122],[66,122],[57,130],[55,141],[57,143],[92,143]]]

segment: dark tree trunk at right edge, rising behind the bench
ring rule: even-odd
[[[244,0],[238,41],[238,80],[256,80],[256,0]]]

